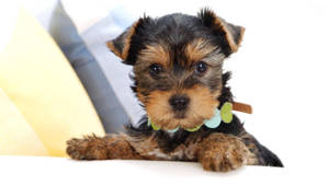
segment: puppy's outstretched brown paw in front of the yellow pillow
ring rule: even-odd
[[[66,152],[75,160],[105,160],[109,155],[105,141],[94,135],[68,140]]]

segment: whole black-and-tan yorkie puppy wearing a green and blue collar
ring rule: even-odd
[[[232,109],[223,61],[236,53],[245,28],[213,11],[139,19],[107,47],[134,67],[133,91],[147,116],[126,134],[69,140],[76,160],[170,160],[201,162],[208,171],[248,165],[283,166],[248,134]]]

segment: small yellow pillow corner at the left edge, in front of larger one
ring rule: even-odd
[[[47,155],[47,150],[18,107],[0,88],[0,154]]]

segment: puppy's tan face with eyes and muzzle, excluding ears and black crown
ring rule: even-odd
[[[134,66],[137,96],[157,126],[194,128],[213,116],[222,90],[220,48],[202,37],[151,43]]]

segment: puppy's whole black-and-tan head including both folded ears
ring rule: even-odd
[[[242,34],[242,27],[202,10],[198,16],[139,19],[107,46],[134,66],[134,89],[151,122],[191,129],[214,115],[223,60],[237,50]]]

